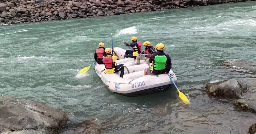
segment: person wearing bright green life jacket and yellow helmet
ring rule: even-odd
[[[172,69],[171,57],[164,53],[164,44],[158,43],[156,45],[157,52],[153,53],[149,62],[152,63],[150,68],[144,69],[144,75],[159,75],[169,73]]]

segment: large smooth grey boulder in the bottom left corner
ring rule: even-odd
[[[0,96],[0,132],[54,134],[67,124],[65,113],[39,102]]]

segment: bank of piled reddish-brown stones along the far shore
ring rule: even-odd
[[[247,0],[1,0],[0,23],[94,18],[244,1]]]

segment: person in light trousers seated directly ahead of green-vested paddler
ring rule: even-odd
[[[140,60],[146,60],[147,65],[150,64],[149,62],[149,57],[151,54],[155,53],[156,48],[150,45],[149,41],[145,41],[143,43],[144,46],[144,51],[142,53],[140,53],[140,56],[136,57],[137,60],[137,65],[140,65]],[[141,54],[148,54],[148,55],[141,55]]]

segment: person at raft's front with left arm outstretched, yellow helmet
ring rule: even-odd
[[[133,36],[131,40],[132,40],[132,43],[126,43],[123,40],[123,43],[126,46],[132,47],[132,50],[125,51],[124,58],[136,58],[136,56],[138,56],[138,54],[141,53],[141,46],[142,46],[141,42],[137,42],[137,37],[135,36]],[[134,56],[133,53],[137,53],[136,56]]]

